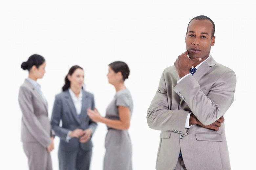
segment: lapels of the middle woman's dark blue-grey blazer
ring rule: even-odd
[[[71,108],[71,111],[72,111],[72,114],[73,114],[75,120],[79,124],[81,124],[81,121],[80,121],[80,119],[77,116],[77,112],[76,112],[76,109],[75,109],[75,104],[74,104],[74,102],[72,100],[72,97],[71,97],[69,91],[66,90],[63,93],[64,93],[64,97],[66,98],[66,100],[67,100],[67,102],[69,104],[69,107]],[[83,90],[82,109],[81,109],[81,113],[80,113],[81,114],[80,115],[81,120],[83,120],[83,117],[87,116],[87,114],[86,114],[87,113],[87,110],[86,110],[87,107],[86,106],[88,105],[88,100],[86,100],[86,98],[88,98],[88,94]]]

